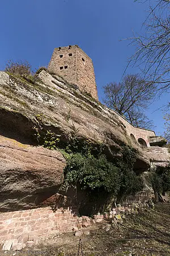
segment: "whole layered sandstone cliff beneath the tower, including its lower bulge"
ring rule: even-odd
[[[65,160],[61,153],[35,147],[32,127],[39,123],[38,117],[43,129],[53,131],[63,141],[74,131],[94,145],[104,143],[111,158],[118,156],[125,144],[134,147],[135,169],[140,172],[147,171],[152,162],[160,166],[169,163],[165,148],[149,147],[153,131],[130,125],[61,77],[45,70],[35,80],[0,72],[1,211],[12,210],[12,206],[15,210],[33,208],[57,193],[62,183]],[[147,147],[142,147],[138,138]]]

